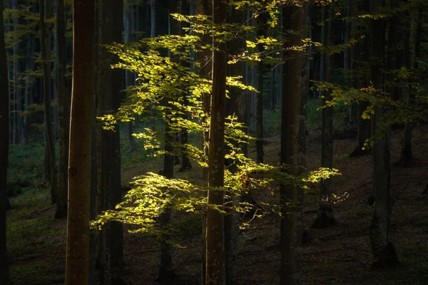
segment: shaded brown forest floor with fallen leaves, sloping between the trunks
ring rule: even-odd
[[[402,130],[392,135],[391,191],[394,199],[390,239],[401,265],[396,269],[371,271],[370,220],[374,207],[367,204],[372,188],[371,156],[349,157],[355,140],[335,140],[334,165],[342,175],[333,178],[333,192],[346,196],[333,206],[337,226],[309,229],[317,213],[317,190],[306,194],[304,220],[308,242],[303,247],[303,282],[320,284],[417,285],[428,280],[428,126],[414,130],[415,166],[403,169],[394,164],[399,159]],[[320,164],[319,134],[310,133],[307,144],[307,169]],[[277,165],[279,136],[268,138],[265,162]],[[142,170],[161,169],[155,162],[141,162],[123,169],[123,182],[141,175]],[[158,168],[156,168],[158,167]],[[180,172],[180,178],[200,178],[195,167]],[[347,193],[347,194],[346,194]],[[8,214],[8,249],[13,284],[63,284],[65,268],[66,223],[55,220],[54,207],[46,190],[32,189],[11,199]],[[174,242],[173,263],[178,279],[173,284],[200,284],[200,217],[176,214],[178,229]],[[255,219],[245,234],[240,234],[238,249],[238,284],[278,284],[280,261],[280,219],[274,214]],[[158,242],[143,234],[124,236],[124,272],[127,284],[157,284],[160,258]]]

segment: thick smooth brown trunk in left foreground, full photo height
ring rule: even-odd
[[[89,215],[93,94],[95,93],[95,1],[73,1],[73,87],[68,160],[66,285],[89,281]]]

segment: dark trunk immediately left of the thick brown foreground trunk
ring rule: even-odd
[[[56,0],[56,90],[58,98],[58,200],[56,202],[56,219],[67,217],[68,196],[68,137],[70,133],[70,97],[66,86],[66,21],[63,0]]]

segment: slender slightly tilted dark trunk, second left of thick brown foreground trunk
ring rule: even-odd
[[[50,1],[50,0],[47,0]],[[39,16],[40,16],[40,51],[41,51],[41,66],[43,72],[43,94],[44,94],[44,123],[45,123],[45,144],[48,146],[46,151],[49,154],[49,182],[51,184],[51,203],[56,203],[57,195],[57,177],[56,177],[56,155],[55,155],[55,145],[54,145],[54,135],[52,133],[52,105],[51,105],[51,94],[52,94],[52,83],[51,83],[51,40],[48,27],[45,24],[45,8],[44,0],[39,0]],[[51,6],[46,2],[46,7],[51,8]],[[46,14],[47,15],[47,14]],[[46,32],[48,31],[48,32]],[[48,54],[49,52],[49,54]],[[46,154],[45,154],[46,157]],[[46,160],[45,160],[46,161]]]

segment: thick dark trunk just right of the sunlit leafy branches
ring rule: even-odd
[[[302,29],[305,24],[305,9],[299,6],[287,6],[282,10],[283,30],[295,31],[289,35],[285,48],[302,44]],[[305,59],[300,51],[285,50],[284,76],[282,84],[282,125],[281,125],[281,165],[292,165],[290,174],[297,175],[304,162],[301,152],[301,105],[302,93],[305,92]],[[283,168],[283,171],[285,169]],[[300,284],[302,219],[300,219],[300,202],[295,185],[280,186],[281,217],[281,261],[280,284]]]

